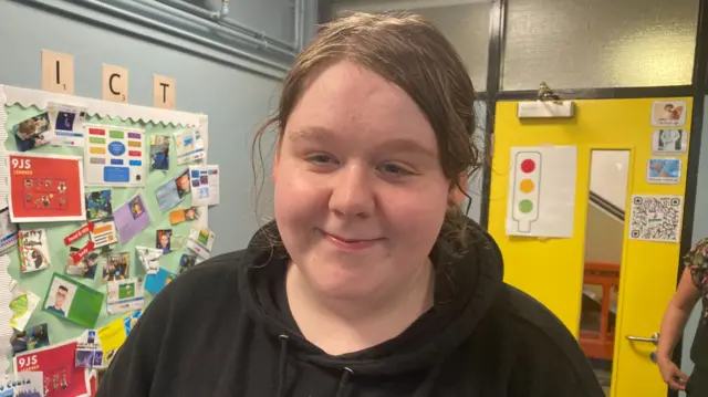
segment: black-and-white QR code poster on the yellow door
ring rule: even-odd
[[[679,242],[681,196],[632,196],[629,240]]]

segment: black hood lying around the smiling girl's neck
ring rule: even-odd
[[[275,296],[284,289],[289,255],[274,221],[251,239],[242,260],[239,294],[251,317],[280,338],[281,354],[325,368],[344,372],[344,377],[391,376],[434,369],[455,352],[485,317],[502,286],[503,264],[492,238],[469,221],[467,249],[454,252],[452,244],[438,241],[430,253],[435,267],[434,306],[406,331],[379,345],[331,356],[308,342],[292,316],[283,313]],[[282,357],[281,357],[282,358]]]

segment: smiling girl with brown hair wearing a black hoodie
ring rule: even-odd
[[[157,295],[98,396],[603,396],[454,199],[473,101],[424,20],[329,24],[257,138],[275,127],[275,219]]]

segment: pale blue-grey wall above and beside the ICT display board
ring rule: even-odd
[[[258,226],[251,206],[250,140],[279,94],[277,76],[254,71],[260,69],[273,75],[277,74],[273,69],[201,48],[144,24],[107,17],[76,6],[81,3],[79,1],[43,2],[48,7],[76,9],[83,20],[75,14],[40,10],[22,1],[0,1],[0,36],[3,38],[0,41],[0,84],[40,88],[42,49],[74,55],[75,94],[80,96],[101,97],[103,63],[128,69],[129,102],[133,104],[152,106],[153,73],[175,77],[177,109],[209,115],[209,163],[221,168],[221,205],[209,211],[209,223],[217,234],[215,251],[221,253],[243,247]],[[86,1],[90,2],[100,1]],[[239,0],[231,3],[236,20],[280,40],[293,40],[293,34],[287,32],[294,29],[290,1]],[[306,0],[305,6],[305,30],[312,34],[316,0]],[[153,36],[154,41],[138,38],[138,33]],[[250,53],[260,55],[254,48]],[[288,61],[280,62],[287,70]],[[253,71],[247,71],[249,67]]]

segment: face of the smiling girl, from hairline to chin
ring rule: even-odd
[[[356,299],[424,269],[450,189],[435,133],[403,90],[335,64],[304,92],[279,145],[275,220],[312,288]]]

